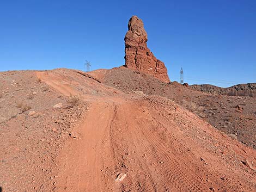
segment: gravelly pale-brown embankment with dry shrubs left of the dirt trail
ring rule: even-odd
[[[34,71],[0,77],[0,187],[51,191],[56,157],[87,104],[52,89]]]

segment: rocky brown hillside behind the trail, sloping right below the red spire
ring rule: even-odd
[[[169,98],[217,129],[256,148],[256,97],[209,94],[177,82],[163,83],[150,75],[125,67],[96,70],[90,75],[126,93],[142,92]]]

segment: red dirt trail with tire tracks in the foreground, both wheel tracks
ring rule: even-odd
[[[136,172],[126,178],[128,188],[133,190],[139,183],[133,183],[132,177],[138,177],[137,182],[142,180],[139,188],[144,191],[206,189],[198,176],[182,167],[180,160],[148,130],[150,123],[127,112],[139,114],[124,101],[92,103],[82,127],[76,130],[80,139],[68,144],[60,157],[65,171],[60,174],[58,191],[120,191],[123,183],[115,178],[122,171]],[[126,129],[125,135],[120,135],[121,129]],[[134,157],[124,163],[123,156],[131,155],[129,151]]]

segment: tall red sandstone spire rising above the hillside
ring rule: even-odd
[[[125,35],[125,66],[144,73],[148,73],[162,82],[169,83],[166,66],[147,46],[148,35],[144,24],[137,16],[132,16]]]

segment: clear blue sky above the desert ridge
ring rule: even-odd
[[[123,65],[132,15],[171,80],[256,82],[256,1],[48,1],[0,3],[0,71]]]

